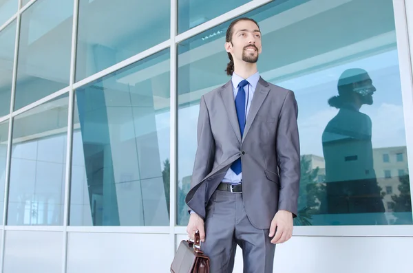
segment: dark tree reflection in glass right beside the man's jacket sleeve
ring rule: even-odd
[[[294,219],[297,226],[310,226],[312,215],[319,213],[319,205],[324,199],[326,185],[317,183],[319,167],[311,168],[311,159],[301,155],[301,177],[298,197],[298,215]]]

